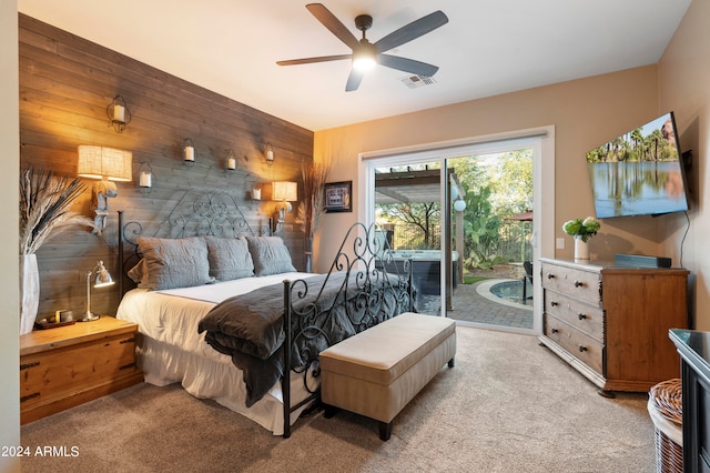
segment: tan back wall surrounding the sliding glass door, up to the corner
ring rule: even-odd
[[[555,199],[540,204],[554,214],[554,238],[567,241],[557,258],[572,258],[572,240],[561,225],[594,215],[586,152],[658,114],[658,68],[648,66],[548,87],[456,103],[315,133],[315,159],[332,154],[331,181],[353,180],[354,202],[361,200],[358,154],[378,150],[493,135],[515,130],[555,127]],[[339,238],[357,213],[325,214],[316,233],[316,270],[327,270]],[[658,254],[659,227],[668,218],[620,218],[602,221],[590,242],[594,259],[615,253]],[[327,238],[324,238],[327,235]],[[671,254],[677,260],[677,254]]]

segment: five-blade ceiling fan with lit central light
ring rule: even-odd
[[[355,27],[363,32],[363,38],[357,40],[357,38],[355,38],[355,36],[353,36],[353,33],[323,4],[308,3],[306,4],[306,8],[321,23],[323,23],[325,28],[347,44],[353,50],[353,53],[277,61],[276,63],[278,66],[308,64],[313,62],[352,59],[353,69],[351,70],[347,83],[345,84],[346,92],[357,90],[365,77],[365,72],[377,63],[387,68],[427,77],[434,76],[439,69],[438,67],[427,64],[426,62],[415,61],[413,59],[400,58],[397,56],[383,54],[383,52],[397,48],[446,24],[448,22],[448,18],[440,10],[419,18],[418,20],[393,31],[379,41],[371,43],[365,37],[365,31],[367,31],[373,24],[373,18],[369,14],[361,14],[355,18]]]

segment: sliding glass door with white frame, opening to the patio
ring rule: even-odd
[[[540,204],[550,195],[540,185],[546,138],[362,157],[363,217],[413,262],[419,312],[539,333],[535,261],[554,255],[536,242],[554,219]]]

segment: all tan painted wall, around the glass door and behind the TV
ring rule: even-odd
[[[674,111],[683,150],[692,149],[690,231],[682,213],[607,219],[591,240],[592,259],[612,260],[615,253],[670,256],[691,271],[690,309],[694,328],[710,330],[710,2],[693,0],[661,60],[629,69],[548,87],[457,103],[437,109],[358,123],[315,133],[315,158],[333,154],[332,181],[353,179],[359,197],[358,153],[420,145],[552,124],[556,127],[555,202],[542,205],[555,213],[555,236],[569,239],[561,224],[594,214],[585,152],[639,123]],[[316,233],[315,268],[327,269],[338,232],[356,213],[326,214]],[[327,235],[327,238],[323,238]],[[557,258],[571,258],[571,244]]]

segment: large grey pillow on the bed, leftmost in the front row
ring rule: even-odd
[[[143,253],[145,288],[190,288],[214,282],[210,276],[207,244],[202,236],[159,239],[139,236]]]

